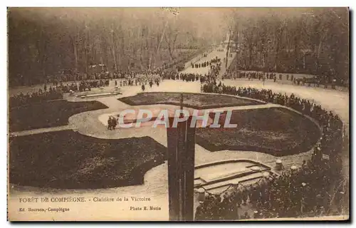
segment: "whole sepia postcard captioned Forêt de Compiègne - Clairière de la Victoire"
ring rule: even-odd
[[[350,219],[348,8],[8,8],[8,220]]]

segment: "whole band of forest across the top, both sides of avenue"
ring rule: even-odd
[[[11,8],[9,83],[41,82],[58,71],[145,71],[225,39],[242,70],[349,78],[345,8]],[[229,29],[228,29],[229,28]],[[162,36],[164,34],[164,36]],[[19,83],[21,81],[21,83]]]

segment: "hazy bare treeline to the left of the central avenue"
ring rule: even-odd
[[[9,83],[38,83],[58,71],[88,73],[90,66],[99,64],[108,71],[147,70],[191,56],[221,39],[219,33],[207,36],[211,26],[221,27],[214,16],[201,16],[193,9],[179,11],[11,8]],[[206,28],[207,21],[214,23],[207,23]]]

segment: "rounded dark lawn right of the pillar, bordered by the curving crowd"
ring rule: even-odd
[[[310,150],[320,138],[315,123],[286,108],[234,110],[230,123],[237,128],[197,128],[197,143],[209,151],[251,150],[285,156]]]

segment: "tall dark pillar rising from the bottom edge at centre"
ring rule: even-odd
[[[169,220],[192,221],[194,219],[194,146],[195,126],[190,128],[192,117],[167,128]]]

